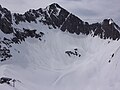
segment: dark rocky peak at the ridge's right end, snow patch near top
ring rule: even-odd
[[[120,38],[120,29],[118,25],[116,25],[114,22],[110,23],[111,19],[104,19],[102,24],[95,23],[91,24],[90,28],[94,32],[94,36],[98,35],[102,39],[113,39],[118,40]]]

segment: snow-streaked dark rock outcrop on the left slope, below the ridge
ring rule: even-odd
[[[15,29],[13,33],[13,38],[7,39],[4,37],[3,39],[0,39],[0,61],[2,62],[12,57],[10,48],[13,44],[20,44],[21,42],[25,41],[28,37],[36,38],[41,41],[41,37],[43,35],[43,32],[36,33],[36,30],[23,28],[23,31],[19,31]]]

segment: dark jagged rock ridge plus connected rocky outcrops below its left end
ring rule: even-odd
[[[43,32],[36,29],[19,28],[20,23],[44,24],[49,29],[60,29],[63,32],[75,33],[77,35],[98,36],[101,39],[120,39],[120,27],[112,19],[104,19],[102,23],[89,24],[82,21],[74,14],[68,12],[56,3],[45,9],[30,9],[24,14],[11,13],[8,9],[0,6],[0,30],[1,33],[11,35],[11,38],[0,37],[0,57],[1,61],[12,57],[10,49],[12,44],[20,44],[27,37],[36,38],[40,41]],[[0,34],[1,35],[1,34]]]

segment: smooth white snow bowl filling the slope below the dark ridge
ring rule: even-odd
[[[16,27],[45,35],[42,41],[27,38],[13,45],[13,57],[0,63],[0,77],[19,82],[15,87],[0,84],[0,90],[120,90],[120,41],[50,30],[42,24],[21,22]],[[75,48],[81,57],[65,54]]]

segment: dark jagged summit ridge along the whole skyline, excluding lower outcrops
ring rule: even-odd
[[[45,9],[30,9],[24,14],[13,13],[0,6],[0,28],[4,33],[11,33],[21,22],[35,22],[48,25],[49,28],[59,28],[70,33],[80,33],[99,36],[102,39],[119,39],[120,27],[112,19],[104,19],[102,23],[89,24],[82,21],[74,14],[68,12],[57,3],[47,6]],[[37,20],[39,19],[39,22]]]

